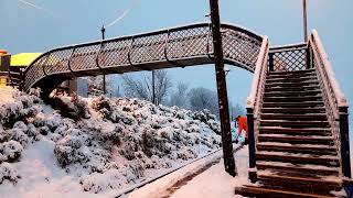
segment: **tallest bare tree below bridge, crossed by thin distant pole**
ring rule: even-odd
[[[157,70],[154,75],[156,105],[159,105],[164,102],[172,82],[167,70]],[[153,100],[152,77],[143,75],[141,79],[133,79],[129,75],[122,75],[122,80],[126,96],[149,101]]]

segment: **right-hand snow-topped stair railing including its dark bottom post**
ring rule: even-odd
[[[341,156],[343,176],[351,178],[350,139],[349,139],[349,102],[335,79],[328,55],[317,31],[312,31],[308,43],[310,67],[314,68],[319,78],[332,135],[338,154]]]

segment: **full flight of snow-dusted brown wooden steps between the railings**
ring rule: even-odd
[[[336,197],[340,155],[314,69],[269,73],[256,141],[257,183],[246,197]]]

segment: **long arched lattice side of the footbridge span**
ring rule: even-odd
[[[225,63],[255,70],[263,37],[222,24]],[[210,23],[54,48],[25,70],[24,90],[53,88],[67,78],[213,63]]]

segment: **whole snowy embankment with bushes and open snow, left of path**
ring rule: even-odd
[[[221,146],[207,111],[105,97],[56,98],[58,111],[11,92],[0,90],[3,197],[113,197]]]

